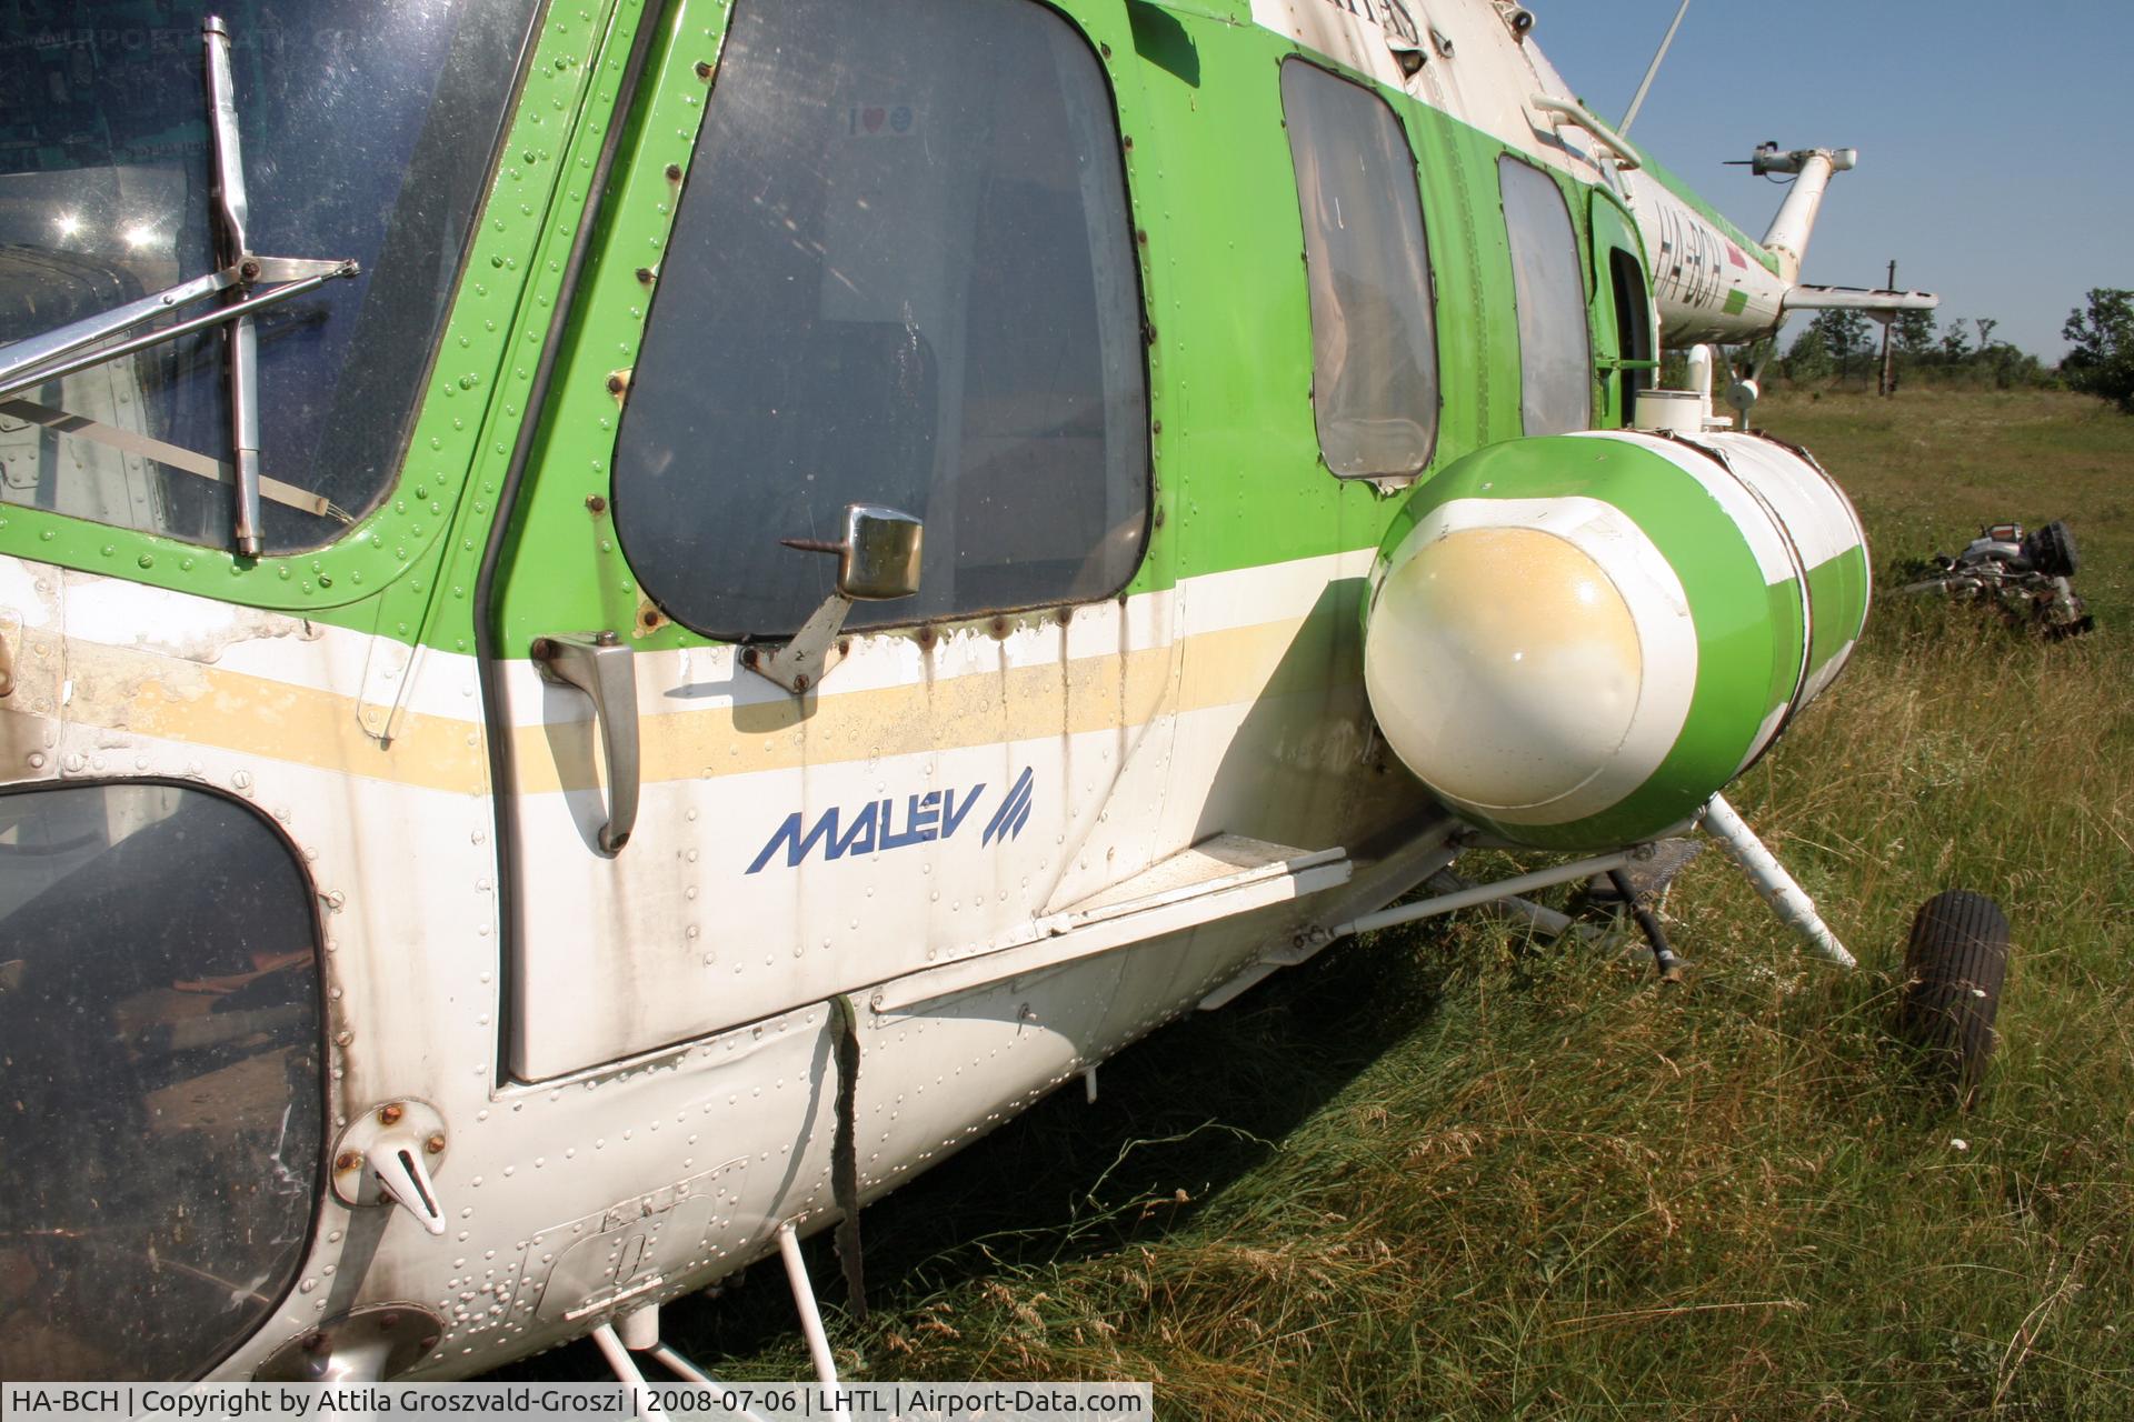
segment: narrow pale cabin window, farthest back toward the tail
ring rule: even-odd
[[[1511,281],[1519,303],[1519,414],[1526,433],[1588,429],[1594,360],[1571,209],[1562,188],[1541,168],[1504,156],[1496,171],[1504,185]]]

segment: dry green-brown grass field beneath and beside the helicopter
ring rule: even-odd
[[[2102,623],[2047,646],[1884,599],[1735,787],[1861,972],[1803,959],[1716,853],[1667,904],[1679,989],[1487,921],[1340,947],[871,1207],[875,1315],[830,1311],[854,1377],[1154,1379],[1172,1418],[2134,1413],[2134,420],[2051,392],[1761,416],[1880,565],[2070,518]],[[1950,885],[2014,925],[1972,1111],[1889,1038]],[[668,1326],[807,1375],[775,1279]]]

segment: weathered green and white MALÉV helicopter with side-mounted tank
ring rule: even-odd
[[[802,1234],[1338,938],[1701,823],[1850,962],[1722,791],[1865,535],[1707,350],[1933,305],[1848,149],[1752,239],[1504,0],[6,15],[0,1373],[773,1256],[830,1373]]]

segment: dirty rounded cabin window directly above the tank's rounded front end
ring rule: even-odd
[[[1438,437],[1438,339],[1415,153],[1370,90],[1283,64],[1304,209],[1312,414],[1340,475],[1419,473]]]

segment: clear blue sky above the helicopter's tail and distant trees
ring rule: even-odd
[[[1528,0],[1534,38],[1618,119],[1677,0]],[[1692,0],[1630,136],[1750,237],[1784,190],[1748,168],[1780,147],[1857,147],[1831,183],[1807,281],[1938,292],[1940,318],[2057,360],[2068,309],[2134,288],[2128,0]],[[1790,341],[1805,318],[1786,326]]]

